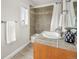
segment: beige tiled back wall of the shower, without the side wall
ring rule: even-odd
[[[37,8],[36,10],[36,32],[50,31],[53,6]]]

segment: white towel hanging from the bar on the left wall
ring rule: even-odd
[[[7,21],[6,23],[6,41],[7,44],[16,41],[14,21]]]

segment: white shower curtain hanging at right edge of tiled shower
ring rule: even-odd
[[[52,12],[52,20],[51,20],[51,28],[50,31],[55,31],[56,28],[59,27],[59,18],[60,18],[60,12],[61,12],[61,5],[56,4],[53,8]]]

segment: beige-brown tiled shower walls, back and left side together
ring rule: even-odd
[[[52,13],[53,6],[31,9],[31,35],[42,31],[50,31]]]

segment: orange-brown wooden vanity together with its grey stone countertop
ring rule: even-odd
[[[77,59],[75,45],[59,40],[57,47],[56,42],[56,40],[45,42],[41,39],[32,41],[34,59]]]

